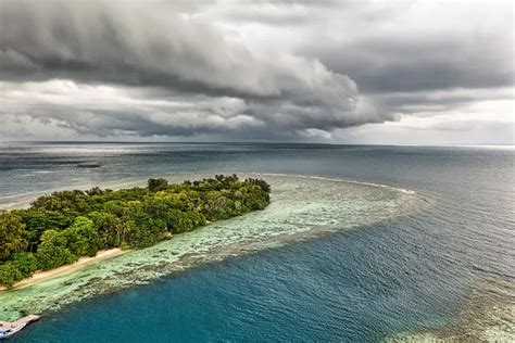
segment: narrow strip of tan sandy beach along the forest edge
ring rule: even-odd
[[[54,278],[65,272],[76,271],[90,264],[97,263],[99,261],[112,258],[112,257],[122,255],[126,252],[127,251],[123,251],[120,247],[102,250],[102,251],[99,251],[95,257],[80,257],[76,263],[71,264],[71,265],[65,265],[55,269],[50,269],[50,270],[45,270],[45,271],[36,271],[30,278],[16,282],[13,288],[21,289],[21,288],[24,288],[37,282],[41,282],[43,280]],[[4,287],[0,287],[0,291],[4,291],[4,290],[5,290]]]

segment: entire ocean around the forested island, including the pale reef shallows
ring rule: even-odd
[[[514,167],[511,147],[0,144],[4,208],[58,189],[145,185],[152,177],[236,173],[273,181],[269,209],[217,224],[214,243],[206,230],[192,236],[211,249],[231,232],[240,247],[213,261],[206,253],[194,267],[162,267],[156,277],[127,279],[99,295],[91,295],[97,269],[83,271],[89,292],[85,281],[68,293],[87,296],[40,300],[59,306],[48,305],[12,341],[377,342],[466,330],[502,341],[514,332],[513,307],[507,319],[493,309],[515,298]],[[306,234],[319,227],[328,229]],[[252,251],[241,249],[249,237]],[[166,254],[155,249],[153,258],[165,259],[160,251]],[[104,274],[103,282],[113,278]],[[59,293],[58,285],[46,290]],[[15,306],[9,302],[29,296],[35,301],[23,306],[36,306],[30,290],[20,291],[3,295],[5,313]],[[0,315],[1,303],[0,296]]]

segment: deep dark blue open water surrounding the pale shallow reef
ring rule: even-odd
[[[508,148],[0,145],[3,204],[58,188],[191,172],[330,176],[434,201],[410,217],[70,305],[13,342],[374,342],[444,325],[473,290],[498,278],[514,282],[514,163]]]

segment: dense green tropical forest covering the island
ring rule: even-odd
[[[263,209],[271,188],[236,175],[147,188],[54,192],[27,209],[0,211],[0,284],[11,288],[111,247],[138,249],[210,221]]]

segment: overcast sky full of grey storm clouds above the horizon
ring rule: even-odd
[[[514,144],[514,11],[0,0],[0,141]]]

